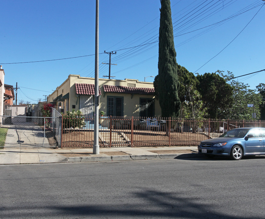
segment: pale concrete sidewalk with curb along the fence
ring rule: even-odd
[[[100,148],[93,154],[93,148],[50,149],[50,148],[4,148],[0,149],[0,165],[40,164],[67,162],[129,161],[201,157],[197,147],[125,147]]]

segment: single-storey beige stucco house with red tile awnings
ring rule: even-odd
[[[68,78],[47,97],[59,112],[81,110],[86,117],[94,115],[95,79],[69,75]],[[158,117],[161,108],[154,96],[150,82],[136,79],[115,80],[99,78],[99,111],[105,116]]]

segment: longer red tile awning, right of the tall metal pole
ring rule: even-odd
[[[104,92],[110,93],[127,93],[127,94],[142,94],[142,95],[154,95],[154,88],[135,88],[125,86],[111,86],[103,85]]]

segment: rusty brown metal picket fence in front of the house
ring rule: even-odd
[[[100,117],[99,145],[109,148],[198,145],[239,127],[265,127],[265,121]],[[93,147],[93,118],[63,118],[61,136],[62,148]]]

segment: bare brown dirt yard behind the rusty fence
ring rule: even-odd
[[[120,135],[113,139],[112,147],[131,147],[131,140],[133,140],[133,147],[154,147],[154,146],[196,146],[200,141],[208,139],[208,136],[201,133],[170,133],[170,137],[165,135],[165,132],[159,131],[147,131],[136,130],[133,133],[133,139],[131,139],[131,132],[124,130],[124,132],[113,131]],[[109,147],[109,132],[100,132],[102,139],[99,139],[100,147]],[[102,141],[103,140],[103,141]],[[114,143],[113,143],[114,142]],[[63,148],[93,148],[94,144],[94,132],[93,131],[73,131],[66,132],[62,136]]]

